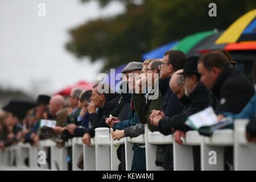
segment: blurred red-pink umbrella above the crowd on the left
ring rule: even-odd
[[[74,88],[80,88],[80,89],[83,89],[83,90],[90,90],[90,89],[93,88],[93,85],[94,84],[86,82],[86,81],[79,81],[76,84],[67,86],[66,88],[60,90],[59,92],[56,92],[55,95],[60,94],[61,96],[69,96],[70,93],[71,93],[71,90],[74,89]]]

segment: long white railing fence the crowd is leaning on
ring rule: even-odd
[[[28,158],[28,167],[31,169],[68,169],[68,147],[72,147],[72,169],[81,170],[77,162],[82,155],[84,170],[118,170],[117,148],[125,144],[126,170],[131,169],[133,160],[134,143],[145,144],[146,169],[163,170],[155,166],[156,147],[158,144],[174,144],[174,170],[193,170],[192,146],[200,146],[201,170],[224,169],[224,147],[234,146],[234,169],[256,170],[256,145],[247,143],[245,138],[245,126],[247,120],[237,119],[234,130],[224,129],[214,131],[211,137],[203,137],[197,131],[188,131],[183,145],[174,142],[172,135],[164,136],[158,131],[150,132],[145,126],[145,134],[136,138],[123,138],[113,140],[108,128],[95,130],[95,137],[91,140],[91,146],[82,143],[81,138],[73,138],[65,143],[64,147],[56,147],[51,140],[40,141],[38,147],[30,144],[19,143],[16,146],[6,147],[0,151],[0,166],[26,167],[25,159]],[[48,165],[38,166],[38,152],[51,153],[51,162]],[[15,160],[15,166],[13,165]],[[49,168],[49,166],[51,166]]]

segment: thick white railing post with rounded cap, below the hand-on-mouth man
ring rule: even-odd
[[[95,129],[96,170],[110,171],[110,133],[108,127]]]

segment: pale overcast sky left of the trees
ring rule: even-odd
[[[38,16],[40,2],[46,17]],[[76,61],[64,48],[68,30],[122,12],[118,2],[102,10],[97,1],[0,0],[0,87],[51,94],[79,80],[96,81],[102,63]]]

